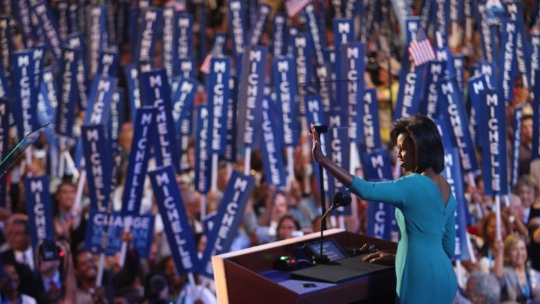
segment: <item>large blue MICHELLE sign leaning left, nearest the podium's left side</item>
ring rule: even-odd
[[[172,166],[160,167],[148,174],[177,272],[182,276],[196,271],[199,263],[197,246],[180,196],[175,169]]]

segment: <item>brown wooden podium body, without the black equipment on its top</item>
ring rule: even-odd
[[[320,233],[308,234],[212,256],[218,302],[394,303],[394,267],[340,284],[292,280],[288,272],[274,270],[273,263],[280,256],[295,256],[299,246],[317,241],[320,236]],[[342,229],[324,231],[324,239],[333,239],[342,248],[360,248],[364,243],[385,250],[397,247],[397,243]]]

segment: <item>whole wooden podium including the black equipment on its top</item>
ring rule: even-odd
[[[395,269],[362,261],[397,243],[324,231],[212,257],[219,303],[394,303]]]

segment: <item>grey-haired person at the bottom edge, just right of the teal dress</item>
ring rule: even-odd
[[[501,288],[492,273],[475,271],[469,275],[465,290],[460,290],[454,304],[498,304]]]

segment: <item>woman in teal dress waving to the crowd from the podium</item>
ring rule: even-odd
[[[398,147],[400,167],[407,174],[392,182],[366,182],[324,156],[311,125],[313,159],[349,191],[368,201],[396,207],[400,241],[395,257],[399,303],[452,303],[457,280],[450,258],[455,251],[457,201],[447,180],[444,148],[437,126],[428,117],[398,120],[390,137]]]

